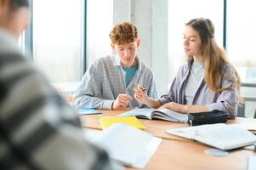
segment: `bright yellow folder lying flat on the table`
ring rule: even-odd
[[[137,127],[145,130],[145,126],[139,122],[135,116],[102,116],[100,117],[100,124],[103,129],[110,127],[112,124],[121,122],[131,127]]]

